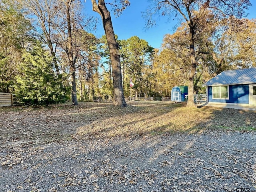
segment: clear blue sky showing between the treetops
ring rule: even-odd
[[[251,0],[250,2],[252,3],[252,7],[248,11],[248,18],[252,19],[256,18],[256,0]],[[92,3],[90,0],[87,0],[85,5],[86,12],[88,12],[89,15],[100,18],[98,13],[92,11]],[[164,35],[174,32],[177,20],[168,21],[167,17],[161,17],[157,22],[157,26],[145,30],[145,21],[142,18],[142,12],[146,11],[147,6],[148,0],[131,0],[130,7],[126,8],[120,17],[116,18],[111,12],[114,32],[118,35],[118,39],[120,40],[138,36],[140,39],[146,40],[153,48],[160,48]],[[110,7],[108,7],[108,9],[111,11]],[[105,34],[101,20],[96,31],[92,33],[98,38]]]

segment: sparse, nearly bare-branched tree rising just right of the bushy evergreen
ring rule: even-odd
[[[76,62],[80,52],[77,50],[76,31],[96,23],[95,20],[87,20],[82,15],[83,4],[80,0],[28,0],[24,1],[24,5],[33,18],[37,18],[37,32],[52,54],[55,72],[61,74],[61,71],[66,70],[70,73],[72,103],[78,105],[76,86],[80,74]]]

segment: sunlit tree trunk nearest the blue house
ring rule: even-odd
[[[190,26],[190,59],[191,59],[191,72],[188,81],[188,104],[187,106],[195,106],[194,103],[194,76],[196,74],[196,56],[195,56],[195,40],[194,28]]]

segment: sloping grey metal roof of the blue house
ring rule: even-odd
[[[256,83],[256,68],[246,68],[223,71],[208,82],[204,83],[203,86],[254,83]]]

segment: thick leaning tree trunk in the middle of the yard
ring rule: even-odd
[[[98,5],[96,0],[92,0],[92,10],[98,12],[102,18],[103,27],[105,30],[108,48],[110,52],[110,60],[112,64],[112,76],[114,85],[114,106],[127,106],[124,100],[124,90],[122,86],[122,72],[120,64],[120,52],[118,50],[118,44],[114,35],[114,29],[112,26],[112,21],[110,17],[110,12],[106,8],[104,0],[98,0]]]

